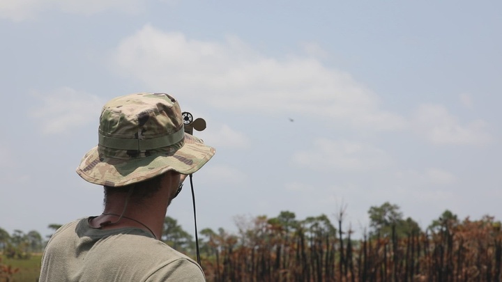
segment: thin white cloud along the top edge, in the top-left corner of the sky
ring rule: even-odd
[[[0,0],[0,18],[20,22],[33,19],[43,10],[92,15],[105,10],[137,13],[146,0]]]

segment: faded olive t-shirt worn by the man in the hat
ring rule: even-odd
[[[140,228],[100,230],[66,224],[45,248],[40,282],[206,281],[194,260]]]

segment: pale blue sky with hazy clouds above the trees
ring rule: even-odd
[[[102,104],[165,92],[206,119],[199,228],[385,201],[423,227],[501,219],[496,1],[0,0],[0,227],[100,214],[75,168]],[[294,121],[290,121],[290,118]],[[168,213],[192,230],[185,189]]]

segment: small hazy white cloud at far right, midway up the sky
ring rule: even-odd
[[[414,113],[416,132],[436,145],[482,145],[493,141],[487,123],[473,120],[460,124],[448,109],[438,104],[423,104]]]

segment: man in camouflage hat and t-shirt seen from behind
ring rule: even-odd
[[[195,261],[160,237],[181,181],[215,149],[185,134],[178,102],[164,93],[109,101],[98,136],[77,173],[105,187],[105,209],[54,233],[40,281],[205,281]]]

